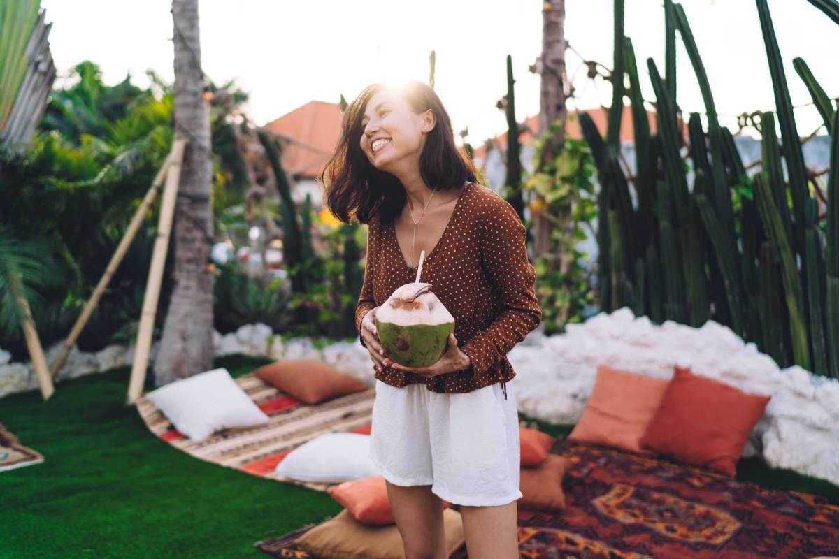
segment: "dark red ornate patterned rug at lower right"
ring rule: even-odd
[[[566,508],[559,514],[519,509],[522,557],[839,555],[839,505],[824,497],[764,489],[706,469],[567,439],[551,452],[569,459]],[[312,526],[254,545],[272,556],[310,559],[294,541]],[[451,556],[466,557],[465,544]]]

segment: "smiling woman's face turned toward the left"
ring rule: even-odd
[[[434,111],[417,114],[399,91],[378,91],[362,117],[361,148],[373,167],[399,176],[419,168],[425,135],[434,128]]]

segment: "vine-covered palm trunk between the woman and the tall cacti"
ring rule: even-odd
[[[562,149],[565,137],[565,0],[550,0],[542,7],[542,81],[539,94],[539,133],[550,123],[561,119],[562,127],[551,137],[542,153],[543,161],[551,161]],[[562,219],[564,216],[556,215]],[[567,216],[565,216],[567,217]],[[550,221],[534,218],[534,256],[550,250]]]

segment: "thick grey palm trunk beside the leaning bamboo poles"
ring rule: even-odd
[[[154,361],[155,384],[208,370],[213,362],[210,107],[204,99],[198,0],[173,0],[175,127],[189,141],[175,208],[175,288]]]

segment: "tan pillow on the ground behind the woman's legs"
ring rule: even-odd
[[[456,510],[443,510],[446,549],[449,555],[463,545],[463,521]],[[316,525],[294,541],[304,551],[320,559],[404,559],[402,536],[395,524],[367,526],[357,522],[345,509],[335,518]]]

